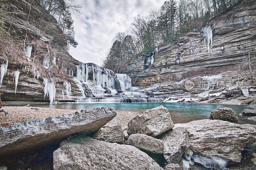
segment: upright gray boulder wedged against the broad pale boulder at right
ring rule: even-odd
[[[179,127],[169,130],[161,138],[164,143],[164,158],[168,163],[179,163],[181,156],[189,147],[188,131]]]

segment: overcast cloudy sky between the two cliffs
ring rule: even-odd
[[[118,32],[129,29],[138,14],[148,15],[150,9],[159,9],[165,0],[77,0],[83,4],[81,14],[74,19],[76,48],[70,55],[83,63],[101,65]]]

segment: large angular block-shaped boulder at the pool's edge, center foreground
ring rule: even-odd
[[[128,134],[146,134],[155,137],[174,127],[171,114],[163,105],[145,110],[128,123]]]

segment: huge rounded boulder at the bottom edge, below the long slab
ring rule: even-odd
[[[86,136],[63,141],[53,152],[53,169],[162,170],[152,158],[134,146]]]

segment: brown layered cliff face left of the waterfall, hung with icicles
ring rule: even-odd
[[[8,35],[1,37],[1,43],[6,45],[0,53],[0,92],[4,93],[1,99],[8,101],[7,104],[49,102],[54,93],[56,101],[80,98],[82,94],[73,76],[76,76],[76,65],[81,62],[68,54],[68,44],[56,19],[39,1],[8,0],[2,3],[7,11],[3,18]],[[5,75],[2,75],[3,64],[7,65]],[[17,82],[15,71],[19,73]],[[53,90],[45,87],[49,83],[55,85]]]

